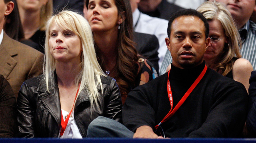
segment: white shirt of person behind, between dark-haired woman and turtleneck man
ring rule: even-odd
[[[159,69],[162,65],[163,58],[165,56],[167,46],[165,44],[165,38],[167,36],[168,21],[157,17],[151,17],[143,14],[137,8],[133,12],[133,25],[134,31],[139,33],[155,35],[159,41],[158,57],[159,57]]]

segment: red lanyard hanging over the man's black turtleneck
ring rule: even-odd
[[[205,72],[207,70],[206,65],[204,66],[203,71],[200,73],[200,75],[197,77],[197,79],[195,80],[195,82],[192,84],[191,87],[189,87],[189,89],[187,90],[187,92],[183,95],[183,97],[181,98],[181,100],[179,101],[179,103],[175,106],[175,108],[172,110],[173,107],[173,100],[172,100],[172,90],[171,90],[171,85],[170,85],[170,81],[169,81],[169,74],[170,71],[168,72],[168,82],[167,82],[167,92],[168,92],[168,97],[169,97],[169,101],[171,104],[171,110],[169,111],[169,113],[162,119],[162,121],[155,126],[155,129],[157,129],[161,123],[167,121],[168,119],[170,119],[172,117],[172,115],[181,107],[181,105],[184,103],[184,101],[187,99],[187,97],[189,96],[189,94],[194,90],[194,88],[197,86],[197,84],[201,81],[201,79],[203,78]]]

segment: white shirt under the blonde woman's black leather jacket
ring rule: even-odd
[[[63,109],[61,109],[61,112],[62,112],[63,119],[65,121],[65,116],[68,115],[69,112],[67,112]],[[60,128],[59,137],[60,138],[83,138],[79,132],[77,125],[75,124],[74,111],[72,112],[71,115],[72,115],[72,117],[71,116],[69,117],[67,127],[62,136],[60,136],[60,131],[61,131],[61,128]]]

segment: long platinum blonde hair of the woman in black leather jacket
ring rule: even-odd
[[[90,97],[91,105],[95,103],[98,107],[97,99],[99,96],[97,87],[102,90],[102,83],[100,76],[103,71],[97,62],[92,30],[87,20],[72,11],[64,10],[52,16],[46,23],[46,39],[45,39],[45,55],[44,55],[44,79],[46,81],[47,91],[50,92],[51,88],[56,86],[54,82],[54,71],[56,69],[55,59],[50,53],[49,38],[50,30],[53,24],[57,24],[64,30],[71,30],[78,35],[82,45],[81,54],[81,70],[78,73],[75,83],[80,89],[78,95],[82,90],[86,90]]]

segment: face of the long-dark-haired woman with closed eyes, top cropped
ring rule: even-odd
[[[87,20],[94,32],[117,30],[121,23],[114,0],[89,0]]]

